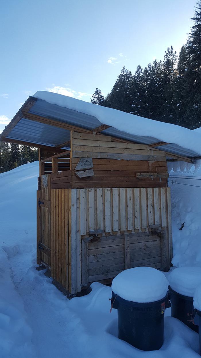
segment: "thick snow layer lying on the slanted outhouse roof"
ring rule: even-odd
[[[69,108],[96,117],[102,124],[135,136],[154,137],[158,141],[174,143],[201,155],[200,134],[174,124],[151,120],[113,108],[98,106],[58,93],[38,91],[33,96],[53,105]],[[162,149],[162,148],[161,148]],[[164,150],[168,151],[168,148]],[[171,151],[171,150],[170,150]]]

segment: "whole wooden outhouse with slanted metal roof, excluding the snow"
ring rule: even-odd
[[[109,284],[131,267],[170,269],[167,160],[191,162],[195,155],[126,134],[29,97],[1,135],[39,147],[37,264],[71,294],[93,281]]]

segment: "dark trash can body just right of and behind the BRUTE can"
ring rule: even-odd
[[[199,327],[193,323],[196,310],[193,307],[193,297],[181,295],[170,287],[171,316],[185,323],[198,333]]]

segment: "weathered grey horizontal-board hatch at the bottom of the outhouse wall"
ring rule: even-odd
[[[113,278],[122,270],[136,266],[162,269],[160,234],[106,236],[91,240],[84,249],[85,276],[88,283]]]

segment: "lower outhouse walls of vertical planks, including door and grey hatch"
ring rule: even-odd
[[[37,243],[49,248],[51,257],[37,251],[37,263],[51,266],[51,276],[72,294],[94,280],[108,282],[125,268],[169,269],[170,188],[50,192],[44,175],[39,198],[44,205],[37,208]],[[102,236],[92,237],[90,231],[98,230]]]

